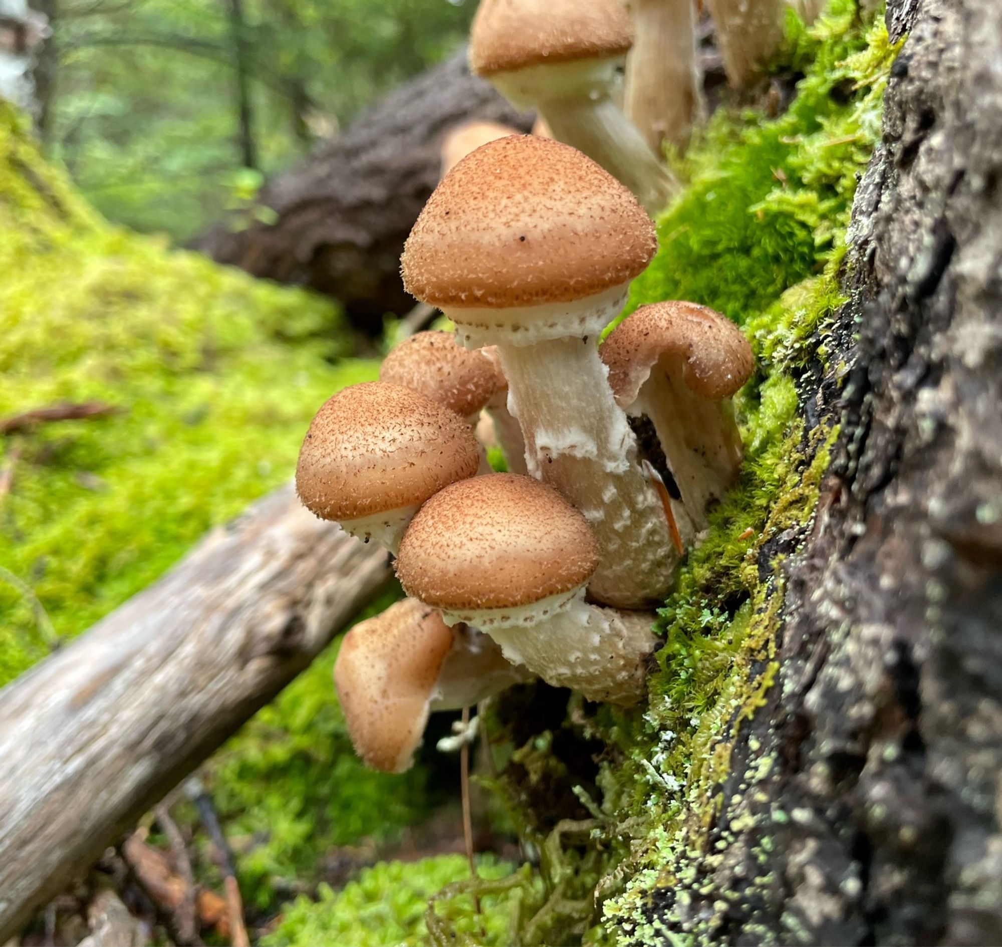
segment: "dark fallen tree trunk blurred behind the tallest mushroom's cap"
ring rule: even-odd
[[[470,118],[523,130],[531,124],[470,75],[460,52],[272,180],[261,203],[275,222],[222,221],[197,249],[255,276],[336,297],[356,325],[379,332],[386,313],[414,306],[400,280],[404,241],[438,183],[442,135]]]

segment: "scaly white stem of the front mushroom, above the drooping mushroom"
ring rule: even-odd
[[[513,664],[589,700],[635,703],[644,692],[645,661],[657,639],[653,615],[589,605],[584,589],[521,608],[444,611],[446,623],[469,621],[489,634]]]

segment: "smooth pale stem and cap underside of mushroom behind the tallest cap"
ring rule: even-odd
[[[554,138],[601,164],[654,212],[678,185],[615,103],[620,64],[613,58],[527,66],[489,78],[516,108],[535,106]]]

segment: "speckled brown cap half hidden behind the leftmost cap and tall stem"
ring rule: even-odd
[[[384,360],[381,382],[420,392],[436,404],[468,417],[480,411],[498,387],[494,363],[464,349],[451,332],[419,332]]]

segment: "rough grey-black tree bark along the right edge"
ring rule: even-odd
[[[842,428],[783,537],[780,677],[696,880],[651,892],[713,943],[1002,943],[1002,5],[888,23],[911,33],[829,345],[848,374],[802,382]]]

